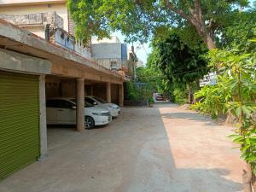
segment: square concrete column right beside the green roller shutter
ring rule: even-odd
[[[47,156],[47,125],[45,101],[45,75],[39,77],[39,112],[40,112],[40,159]]]

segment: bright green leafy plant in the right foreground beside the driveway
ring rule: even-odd
[[[199,98],[192,108],[211,113],[218,118],[219,111],[236,117],[236,133],[230,137],[241,147],[241,158],[252,166],[256,174],[256,68],[255,55],[237,54],[236,50],[212,50],[211,65],[218,64],[218,84],[207,86],[195,95]]]

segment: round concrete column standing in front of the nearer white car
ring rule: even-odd
[[[84,79],[77,79],[77,131],[84,131]]]

